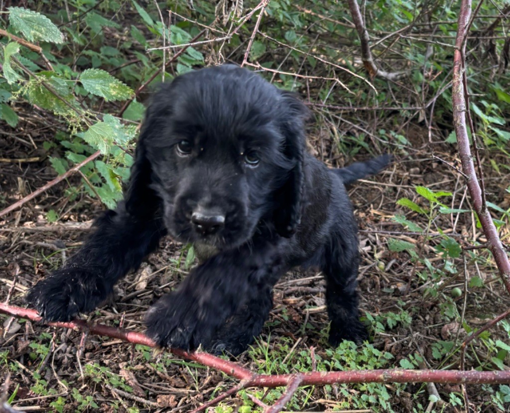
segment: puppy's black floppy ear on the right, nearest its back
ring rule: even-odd
[[[291,92],[282,91],[281,128],[285,136],[283,151],[294,166],[287,181],[278,191],[274,222],[276,231],[291,237],[301,222],[301,201],[304,189],[305,122],[311,118],[309,109]]]

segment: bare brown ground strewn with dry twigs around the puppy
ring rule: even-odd
[[[21,122],[23,126],[18,127],[16,133],[11,131],[0,139],[0,157],[4,158],[0,160],[0,209],[56,176],[42,144],[52,135],[53,128],[58,127],[58,121],[41,122],[40,119],[37,114],[25,115]],[[426,282],[419,277],[419,273],[425,270],[423,264],[414,262],[405,251],[390,251],[388,239],[412,243],[421,258],[427,258],[433,266],[442,267],[445,265],[444,260],[436,250],[440,238],[435,235],[440,229],[465,245],[472,244],[474,240],[481,242],[484,236],[476,228],[470,213],[438,215],[431,223],[429,238],[409,228],[404,229],[392,220],[397,213],[405,214],[407,219],[422,228],[427,226],[426,217],[396,203],[398,199],[407,197],[426,206],[416,194],[416,185],[451,191],[454,196],[447,198],[449,206],[470,208],[462,176],[431,157],[433,153],[458,166],[454,146],[429,142],[427,130],[421,125],[410,123],[402,133],[411,141],[413,149],[408,148],[405,153],[388,148],[396,152],[395,163],[384,173],[354,184],[349,191],[360,226],[361,309],[363,314],[373,317],[384,318],[388,312],[400,314],[402,311],[411,316],[409,325],[396,323],[394,328],[387,327],[384,332],[374,334],[372,331],[375,348],[390,352],[395,357],[393,363],[396,367],[399,367],[400,360],[419,353],[431,368],[458,368],[458,353],[445,362],[435,357],[433,345],[453,340],[457,332],[460,340],[466,335],[458,318],[453,317],[452,321],[444,306],[445,297],[452,297],[454,288],[464,290],[462,258],[452,259],[458,271],[449,272],[448,277],[438,281],[436,296],[425,294],[431,281]],[[311,148],[331,165],[353,160],[345,159],[330,150],[327,137],[324,136],[313,136]],[[368,156],[360,153],[354,160]],[[6,159],[21,160],[8,162]],[[504,188],[510,182],[510,174],[493,171],[488,157],[484,157],[483,162],[487,167],[488,198],[506,210],[510,206],[510,195]],[[502,182],[506,184],[502,185]],[[9,298],[11,304],[23,306],[23,296],[27,289],[73,254],[73,250],[86,238],[91,222],[104,207],[97,200],[84,195],[83,191],[73,198],[69,188],[80,185],[80,177],[72,176],[0,221],[1,300]],[[58,222],[48,223],[45,213],[50,209],[59,211]],[[503,229],[501,235],[508,236],[508,229]],[[498,281],[490,254],[487,251],[477,251],[477,255],[478,261],[469,261],[467,269],[469,277],[477,275],[483,280],[483,288],[469,288],[466,300],[464,294],[451,299],[458,313],[464,313],[464,320],[471,328],[482,326],[510,306],[510,297]],[[182,245],[164,239],[158,253],[151,255],[139,271],[122,280],[115,288],[115,296],[89,315],[89,319],[110,325],[119,325],[123,320],[123,327],[143,331],[142,319],[147,307],[172,290],[186,276],[184,259]],[[118,411],[127,411],[132,406],[140,411],[189,411],[202,401],[209,400],[218,387],[225,389],[235,382],[211,369],[200,369],[194,364],[178,360],[165,365],[165,371],[162,372],[146,363],[146,352],[118,340],[90,336],[81,346],[82,336],[79,332],[19,320],[9,322],[7,317],[2,317],[2,322],[0,353],[8,351],[8,356],[6,362],[2,361],[0,374],[4,376],[9,365],[16,366],[15,369],[9,368],[11,382],[14,383],[11,384],[9,394],[18,386],[12,404],[25,411],[52,410],[54,407],[50,403],[60,394],[66,400],[63,411],[80,410],[79,399],[66,399],[65,389],[71,389],[71,384],[82,395],[92,396],[98,405],[98,408],[87,407],[85,411],[114,411],[110,407],[112,400],[119,403]],[[271,350],[271,346],[277,346],[279,340],[285,339],[295,346],[295,351],[309,351],[313,346],[316,353],[321,355],[328,348],[324,334],[326,325],[324,282],[321,275],[313,271],[293,271],[274,289],[274,308],[261,341],[267,343]],[[507,335],[501,327],[491,329],[491,334],[494,341],[498,338],[505,340],[505,337],[507,341]],[[53,351],[47,352],[42,361],[34,360],[31,354],[41,349],[40,346],[34,346],[34,343],[51,346]],[[490,353],[486,345],[478,342],[470,351],[467,369],[480,366],[487,370],[497,369],[491,363],[494,354]],[[133,391],[122,393],[120,387],[112,388],[111,384],[95,380],[91,375],[85,377],[84,366],[94,362],[123,377]],[[248,368],[256,366],[247,353],[241,355],[237,362]],[[508,357],[504,365],[506,369],[509,368]],[[34,393],[33,387],[41,384],[41,380],[45,380],[47,386],[55,389],[57,394],[41,396],[41,393]],[[461,394],[457,385],[438,384],[437,390],[445,400],[452,392]],[[467,391],[473,406],[483,411],[501,411],[490,405],[489,394],[480,386],[468,386]],[[409,384],[396,396],[398,400],[393,402],[395,411],[412,411],[413,407],[416,408],[417,398],[413,395],[417,393],[420,393],[418,400],[427,405],[428,393],[424,387]],[[312,393],[308,409],[329,410],[334,407],[334,402],[332,399],[327,400],[323,390],[317,387]],[[448,406],[444,411],[454,410],[454,407]],[[441,409],[437,408],[436,411]]]

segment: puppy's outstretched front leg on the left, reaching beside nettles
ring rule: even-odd
[[[68,321],[94,310],[127,271],[137,268],[158,245],[163,226],[141,219],[123,205],[107,211],[82,249],[30,289],[27,301],[49,321]]]

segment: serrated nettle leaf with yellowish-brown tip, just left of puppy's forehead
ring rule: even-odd
[[[80,75],[80,82],[85,90],[93,95],[109,100],[126,100],[133,90],[119,79],[101,69],[87,69]]]

